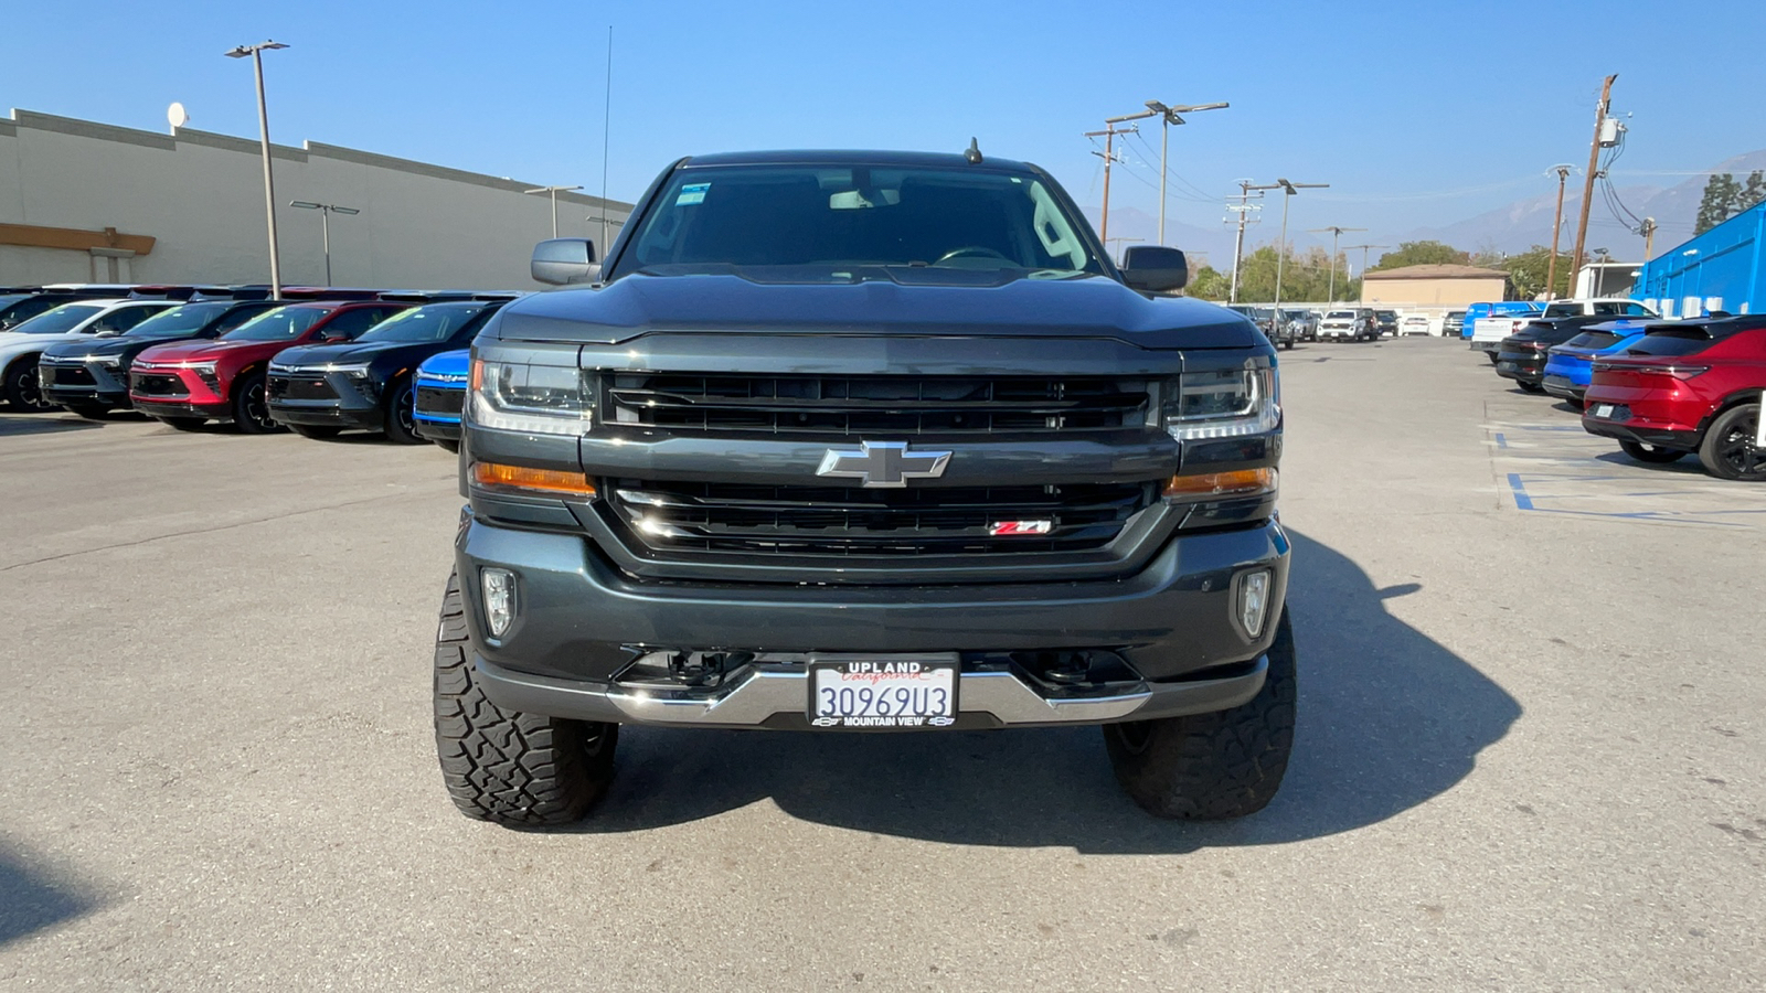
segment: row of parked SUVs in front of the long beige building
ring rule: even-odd
[[[138,410],[178,429],[328,438],[381,431],[457,447],[466,346],[517,293],[263,286],[0,288],[14,412]],[[42,300],[46,299],[46,300]],[[26,300],[48,306],[21,306]],[[4,320],[4,318],[0,318]],[[449,364],[424,371],[427,359]],[[419,412],[419,394],[424,410]]]

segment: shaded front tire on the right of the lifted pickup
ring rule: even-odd
[[[1294,744],[1294,633],[1275,625],[1270,673],[1231,710],[1106,724],[1116,781],[1153,816],[1220,820],[1261,811],[1282,786]]]

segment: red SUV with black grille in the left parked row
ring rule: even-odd
[[[157,345],[129,368],[129,403],[182,429],[214,419],[231,421],[249,435],[281,431],[263,396],[270,359],[297,345],[353,341],[408,307],[385,300],[288,304],[214,341]]]

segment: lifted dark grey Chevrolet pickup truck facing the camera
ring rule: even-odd
[[[1118,270],[1012,161],[682,159],[588,283],[472,350],[470,500],[434,652],[468,816],[555,825],[625,723],[1102,724],[1174,818],[1261,809],[1287,765],[1294,641],[1275,519],[1275,348]]]

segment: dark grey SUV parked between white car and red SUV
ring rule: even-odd
[[[154,345],[201,337],[221,337],[263,311],[283,306],[268,299],[268,290],[242,292],[235,299],[224,290],[208,290],[191,302],[161,311],[124,332],[104,332],[94,339],[64,341],[42,350],[37,375],[42,399],[58,403],[81,417],[102,417],[111,408],[129,408],[129,368],[134,357]]]

